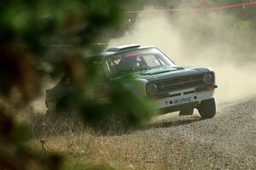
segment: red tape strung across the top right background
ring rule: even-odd
[[[220,10],[224,8],[236,8],[236,7],[245,7],[248,5],[256,5],[256,2],[249,2],[249,3],[237,3],[232,5],[226,5],[226,6],[218,6],[218,7],[210,7],[210,8],[154,8],[154,9],[148,9],[148,10],[131,10],[126,11],[128,14],[136,14],[136,13],[155,13],[155,12],[178,12],[178,11],[214,11],[214,10]]]

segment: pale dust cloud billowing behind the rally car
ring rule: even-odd
[[[141,13],[124,37],[108,46],[138,43],[160,48],[177,65],[216,72],[217,103],[256,95],[256,31],[226,11]]]

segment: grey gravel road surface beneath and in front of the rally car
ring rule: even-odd
[[[108,163],[127,169],[256,169],[256,98],[222,105],[212,119],[196,113],[155,119],[145,129],[96,139]]]

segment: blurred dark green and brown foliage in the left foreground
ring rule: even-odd
[[[0,96],[4,100],[0,109],[1,169],[61,168],[61,156],[37,154],[35,150],[27,149],[27,128],[21,128],[15,122],[14,115],[19,112],[19,107],[27,105],[40,93],[44,84],[42,77],[55,77],[63,72],[72,77],[74,92],[68,100],[80,113],[90,113],[84,115],[88,120],[92,117],[93,122],[100,121],[102,113],[108,115],[115,110],[119,99],[113,99],[111,105],[89,100],[87,92],[100,78],[95,80],[97,69],[90,67],[90,62],[83,64],[84,56],[97,52],[93,43],[103,31],[120,29],[123,8],[127,4],[115,0],[3,0],[0,3]],[[121,82],[117,89],[120,87],[123,87]],[[117,89],[113,90],[113,96],[119,98]],[[133,99],[143,102],[128,91],[125,93],[129,103],[128,98],[122,100],[121,105],[126,107],[118,108],[118,111],[130,109],[127,105],[134,105]],[[14,96],[18,102],[14,102]],[[8,105],[16,108],[15,111],[4,109]],[[144,110],[135,109],[124,119],[141,122],[142,117],[136,115],[138,111]]]

